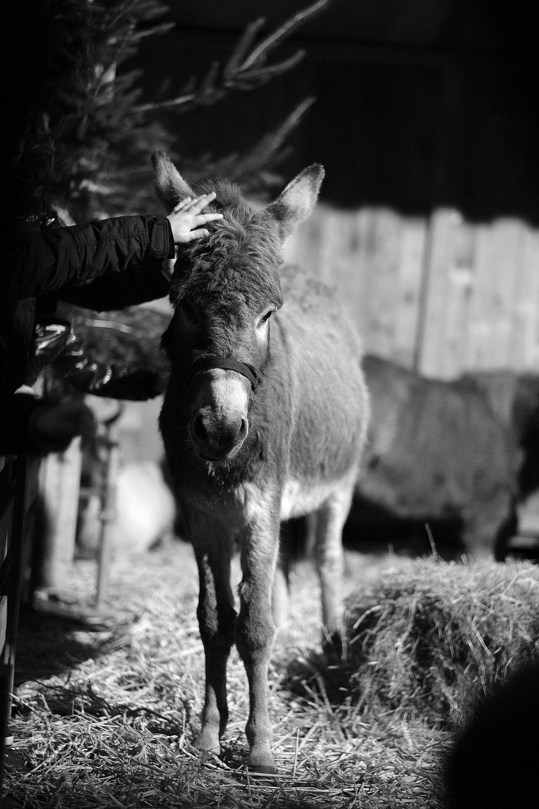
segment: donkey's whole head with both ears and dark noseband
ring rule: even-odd
[[[154,155],[155,188],[172,210],[189,188],[167,155]],[[226,462],[240,451],[249,409],[269,363],[269,319],[282,306],[281,246],[315,203],[324,170],[303,170],[264,210],[253,210],[240,189],[225,182],[209,210],[207,239],[180,247],[172,277],[174,314],[162,345],[179,381],[189,438],[202,460]]]

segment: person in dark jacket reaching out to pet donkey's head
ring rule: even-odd
[[[57,296],[97,310],[163,297],[181,244],[204,238],[214,193],[181,201],[168,216],[125,216],[82,227],[43,227],[11,239],[0,272],[0,455],[62,451],[89,437],[83,404],[16,391],[32,358],[36,299]]]

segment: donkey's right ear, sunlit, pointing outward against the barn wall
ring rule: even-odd
[[[279,234],[283,241],[286,236],[291,235],[299,222],[303,222],[312,214],[324,173],[320,163],[313,163],[312,166],[304,168],[303,172],[300,172],[265,209],[278,223]]]

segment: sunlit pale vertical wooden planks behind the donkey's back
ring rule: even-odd
[[[337,287],[367,352],[444,379],[539,371],[539,230],[516,218],[320,204],[285,252]]]

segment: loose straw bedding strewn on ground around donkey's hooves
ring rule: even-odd
[[[374,684],[378,675],[368,683],[364,668],[373,668],[376,626],[387,630],[382,616],[389,614],[390,582],[397,582],[396,597],[410,582],[410,603],[414,587],[423,582],[427,588],[428,565],[435,570],[442,563],[393,560],[393,572],[382,573],[388,557],[350,553],[348,562],[347,590],[371,594],[373,606],[384,604],[385,612],[376,613],[367,629],[365,612],[371,602],[367,596],[352,595],[346,618],[349,659],[342,666],[325,667],[319,657],[316,578],[310,565],[298,566],[291,582],[291,620],[278,636],[270,671],[279,768],[279,776],[271,781],[253,781],[245,769],[248,693],[236,650],[228,667],[231,719],[223,756],[201,757],[189,746],[204,690],[195,614],[197,576],[189,546],[172,544],[157,553],[117,561],[112,617],[100,631],[26,616],[19,638],[15,741],[2,806],[438,806],[443,799],[439,760],[451,735],[440,729],[442,723],[425,722],[422,709],[414,713],[395,705],[393,697],[387,700],[384,689]],[[444,569],[455,578],[458,591],[456,567]],[[518,571],[524,590],[522,582],[528,578],[537,582],[524,567]],[[438,578],[444,575],[440,572]],[[79,604],[90,602],[94,584],[92,563],[79,562],[71,592],[64,595],[76,596]],[[513,589],[506,595],[516,599]],[[392,609],[394,616],[397,608]],[[403,613],[400,623],[394,622],[393,642],[404,637],[399,665],[405,649],[414,647],[405,634],[410,624],[407,609],[408,617]],[[520,608],[514,604],[514,609],[516,616]],[[513,635],[518,634],[516,619],[512,627]],[[387,654],[388,645],[387,637],[386,651],[380,654]],[[390,665],[388,659],[386,669]],[[371,698],[372,705],[367,705]]]

